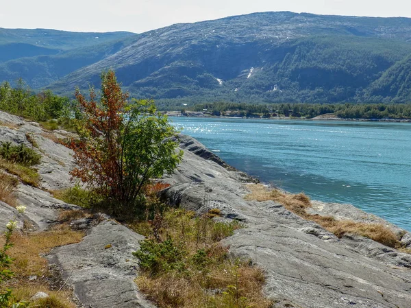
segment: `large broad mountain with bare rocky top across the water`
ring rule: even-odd
[[[264,12],[113,35],[92,44],[64,32],[36,46],[47,50],[0,63],[1,79],[73,95],[111,68],[133,96],[163,106],[411,101],[411,19]],[[56,42],[66,50],[53,54]]]

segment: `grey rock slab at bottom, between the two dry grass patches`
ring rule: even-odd
[[[152,308],[134,283],[138,263],[132,252],[142,239],[121,224],[105,221],[80,243],[55,248],[48,258],[61,268],[84,307]]]

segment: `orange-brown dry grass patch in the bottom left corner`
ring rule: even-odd
[[[74,308],[71,301],[72,294],[69,290],[53,291],[50,289],[48,280],[53,274],[49,272],[47,260],[41,256],[49,253],[52,248],[77,243],[82,240],[84,233],[73,231],[66,224],[51,228],[51,230],[33,234],[18,234],[12,236],[14,246],[9,250],[14,262],[10,270],[15,274],[14,279],[9,281],[16,300],[29,302],[37,292],[45,292],[50,298],[37,300],[30,303],[29,307],[49,308]],[[3,244],[3,238],[0,239]],[[37,276],[38,279],[29,281],[29,276]]]

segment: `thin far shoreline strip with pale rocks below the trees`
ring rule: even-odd
[[[411,119],[344,119],[339,117],[327,117],[319,115],[313,118],[306,117],[229,117],[225,115],[210,115],[201,111],[186,111],[184,115],[179,111],[166,111],[169,117],[201,117],[211,119],[259,119],[259,120],[301,120],[301,121],[359,121],[359,122],[393,122],[393,123],[411,123]],[[325,117],[324,117],[325,116]]]

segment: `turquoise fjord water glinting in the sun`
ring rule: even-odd
[[[224,161],[411,230],[411,124],[171,117]]]

